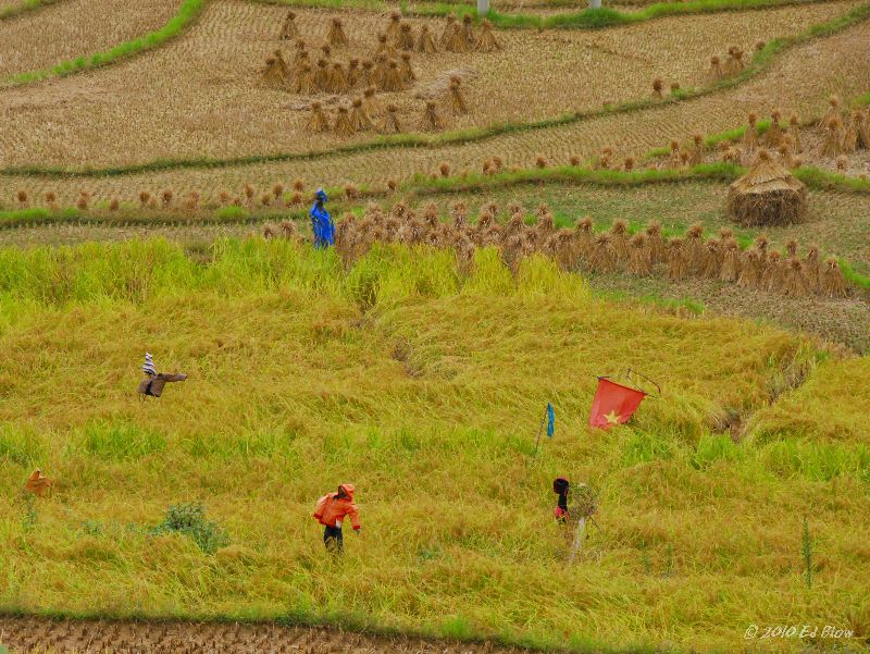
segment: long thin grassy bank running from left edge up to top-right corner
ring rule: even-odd
[[[296,0],[293,0],[296,1]],[[321,0],[303,0],[321,1]],[[338,2],[340,0],[332,0]],[[365,1],[365,0],[363,0]],[[200,5],[204,0],[185,0],[186,3]],[[861,4],[850,10],[846,14],[836,16],[824,23],[809,27],[799,35],[792,37],[775,38],[768,42],[763,49],[757,51],[750,64],[738,75],[722,79],[716,84],[701,89],[680,89],[675,95],[669,96],[663,100],[645,98],[641,100],[630,100],[619,104],[607,104],[601,109],[580,111],[564,114],[555,119],[546,119],[537,122],[527,123],[497,123],[488,127],[472,127],[470,129],[446,132],[435,136],[424,136],[421,134],[401,134],[397,136],[380,136],[370,141],[340,146],[327,150],[309,150],[306,152],[277,152],[272,155],[251,155],[246,157],[232,157],[228,159],[211,159],[208,157],[191,159],[156,159],[153,161],[130,165],[115,165],[102,169],[86,166],[84,169],[70,169],[59,166],[8,166],[0,170],[3,176],[36,176],[49,178],[75,178],[75,177],[108,177],[115,175],[132,175],[151,173],[177,169],[212,169],[212,168],[233,168],[241,165],[254,165],[259,163],[274,163],[279,161],[302,161],[309,159],[320,159],[327,157],[341,157],[345,155],[369,152],[381,149],[391,148],[439,148],[467,143],[483,141],[496,136],[510,133],[523,133],[534,129],[543,129],[560,125],[569,125],[610,114],[632,113],[651,108],[663,107],[670,103],[684,102],[712,95],[721,90],[726,90],[739,86],[744,82],[761,74],[772,65],[775,57],[782,52],[806,44],[816,38],[832,36],[838,32],[853,27],[863,21],[870,20],[870,2]]]

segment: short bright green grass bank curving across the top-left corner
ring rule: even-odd
[[[33,1],[39,2],[45,0]],[[11,75],[10,77],[7,77],[2,84],[0,84],[0,89],[32,84],[34,82],[44,82],[45,79],[54,77],[66,77],[67,75],[73,75],[75,73],[82,73],[109,65],[122,59],[127,59],[146,50],[162,46],[167,40],[178,36],[182,30],[189,26],[202,11],[204,5],[206,0],[182,0],[178,11],[160,29],[149,32],[148,34],[138,36],[132,40],[124,41],[102,52],[97,52],[88,57],[69,59],[51,66],[50,69]]]

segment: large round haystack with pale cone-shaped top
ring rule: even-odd
[[[743,225],[788,225],[807,214],[807,189],[767,150],[728,192],[729,213]]]

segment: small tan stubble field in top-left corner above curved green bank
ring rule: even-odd
[[[145,36],[164,25],[179,4],[181,0],[63,0],[2,21],[0,88],[12,75],[50,69]],[[18,128],[25,128],[18,119],[26,111],[25,107],[16,110],[13,123]],[[42,138],[52,136],[44,132]]]

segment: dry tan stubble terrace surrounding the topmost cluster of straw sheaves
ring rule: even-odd
[[[419,131],[423,102],[418,96],[439,97],[437,89],[458,73],[472,111],[451,118],[442,109],[447,129],[557,118],[646,98],[655,77],[666,85],[701,86],[711,54],[724,55],[731,45],[751,51],[758,40],[801,33],[856,4],[681,16],[601,32],[499,30],[500,52],[415,55],[419,81],[413,88],[383,94],[378,103],[381,110],[397,103],[403,129]],[[313,134],[307,126],[311,97],[259,84],[265,58],[278,47],[291,49],[290,42],[277,40],[285,13],[282,8],[215,1],[187,34],[163,48],[88,75],[0,92],[0,115],[16,116],[0,127],[2,163],[103,166],[158,158],[304,152],[372,139],[371,133],[350,138]],[[316,47],[336,15],[312,10],[300,12],[297,22]],[[384,17],[348,11],[341,16],[351,45],[334,59],[370,57]],[[417,27],[423,21],[411,22]],[[425,22],[434,34],[440,33],[443,21]],[[332,111],[350,96],[319,99]],[[403,157],[398,161],[407,168]]]

